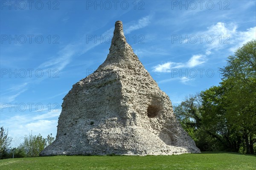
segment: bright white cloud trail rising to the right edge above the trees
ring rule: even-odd
[[[193,55],[189,61],[185,63],[166,62],[164,64],[159,64],[153,67],[153,71],[171,72],[171,69],[175,68],[196,67],[207,61],[206,56],[212,54],[212,50],[228,48],[230,51],[234,52],[246,42],[256,39],[256,27],[248,28],[247,31],[237,31],[237,26],[235,24],[225,24],[219,22],[208,27],[207,31],[201,33],[198,32],[197,35],[204,35],[204,47],[206,48],[205,55]],[[207,36],[210,38],[207,39]],[[186,79],[184,79],[184,82],[186,82],[185,80]]]

